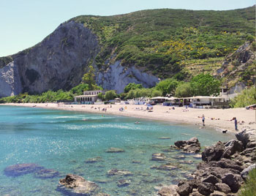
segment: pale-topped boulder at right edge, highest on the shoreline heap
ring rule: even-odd
[[[243,143],[244,147],[246,147],[249,142],[256,140],[256,129],[244,127],[241,132],[236,134],[236,138]]]

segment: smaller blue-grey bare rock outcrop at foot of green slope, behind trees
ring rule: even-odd
[[[105,71],[97,72],[96,81],[104,89],[115,89],[117,93],[121,93],[129,83],[141,83],[143,87],[148,88],[155,86],[159,78],[135,66],[123,67],[121,61],[116,61]]]

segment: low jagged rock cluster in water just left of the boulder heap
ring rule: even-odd
[[[192,137],[189,140],[178,140],[174,144],[187,153],[198,153],[200,151],[200,143],[197,137]]]

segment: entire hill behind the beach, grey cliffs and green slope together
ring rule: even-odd
[[[118,92],[130,82],[150,87],[158,78],[215,74],[225,56],[253,42],[254,35],[255,7],[82,15],[34,47],[0,58],[0,97],[70,89],[89,65],[96,68],[99,85]]]

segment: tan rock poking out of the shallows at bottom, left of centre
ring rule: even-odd
[[[86,181],[82,176],[67,174],[59,180],[58,191],[67,195],[98,195],[100,188],[92,181]],[[104,195],[104,194],[103,194]]]

